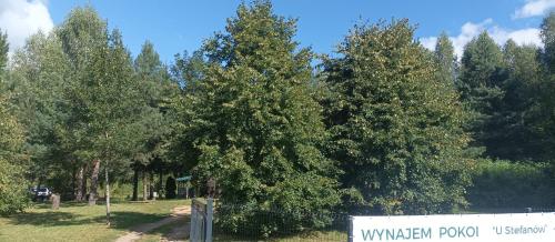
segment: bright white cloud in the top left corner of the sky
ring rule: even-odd
[[[10,52],[23,47],[29,36],[53,27],[44,0],[0,0],[0,29],[8,32]]]

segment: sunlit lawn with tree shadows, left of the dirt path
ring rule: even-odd
[[[139,224],[163,219],[172,208],[183,204],[190,201],[114,203],[110,228],[105,225],[103,204],[63,203],[58,211],[38,204],[26,213],[0,218],[0,241],[113,241]]]

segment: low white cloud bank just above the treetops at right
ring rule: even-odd
[[[508,39],[512,39],[517,44],[535,44],[542,47],[539,29],[527,28],[509,30],[496,26],[492,19],[486,19],[478,23],[466,22],[461,27],[461,33],[458,36],[450,37],[455,48],[455,54],[461,58],[463,56],[464,46],[483,31],[487,31],[492,39],[500,46],[504,44]],[[437,37],[426,37],[420,39],[420,41],[425,48],[434,50]]]

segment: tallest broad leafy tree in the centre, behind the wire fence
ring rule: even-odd
[[[320,151],[327,134],[309,90],[312,53],[293,41],[295,21],[255,1],[241,4],[225,29],[206,41],[206,70],[181,102],[198,184],[216,181],[220,224],[232,231],[329,224],[336,172]],[[272,209],[282,213],[264,220]]]

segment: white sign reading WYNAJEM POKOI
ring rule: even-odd
[[[555,213],[353,216],[353,242],[555,242]]]

